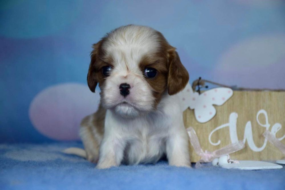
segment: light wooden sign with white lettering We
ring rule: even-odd
[[[223,105],[213,107],[215,116],[203,123],[198,122],[199,116],[195,115],[194,108],[187,108],[183,113],[185,127],[194,128],[204,151],[214,151],[243,140],[245,148],[231,154],[231,159],[284,158],[280,150],[262,136],[265,130],[269,130],[285,144],[284,91],[233,91],[232,96]],[[192,162],[200,160],[191,145],[190,154]]]

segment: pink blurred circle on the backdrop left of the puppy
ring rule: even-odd
[[[81,120],[97,110],[99,101],[99,92],[92,93],[87,85],[54,85],[38,93],[30,103],[30,121],[51,139],[78,140]]]

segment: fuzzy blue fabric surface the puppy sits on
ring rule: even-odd
[[[80,143],[0,144],[0,189],[285,189],[285,169],[242,171],[156,165],[98,170],[64,148]]]

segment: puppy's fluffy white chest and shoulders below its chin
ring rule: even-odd
[[[167,143],[170,140],[171,143]],[[172,142],[173,140],[175,142]],[[188,139],[178,98],[176,95],[165,94],[156,111],[132,119],[119,117],[107,110],[101,149],[108,149],[109,145],[104,146],[104,142],[111,142],[116,154],[118,150],[122,150],[119,153],[123,157],[121,160],[128,164],[154,163],[167,154],[167,151],[172,151],[176,143],[187,145]],[[187,152],[186,149],[182,152]],[[105,151],[100,152],[104,154]]]

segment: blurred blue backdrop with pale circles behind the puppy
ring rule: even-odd
[[[190,82],[285,88],[285,1],[2,0],[0,142],[78,140],[91,44],[126,24],[162,32]]]

